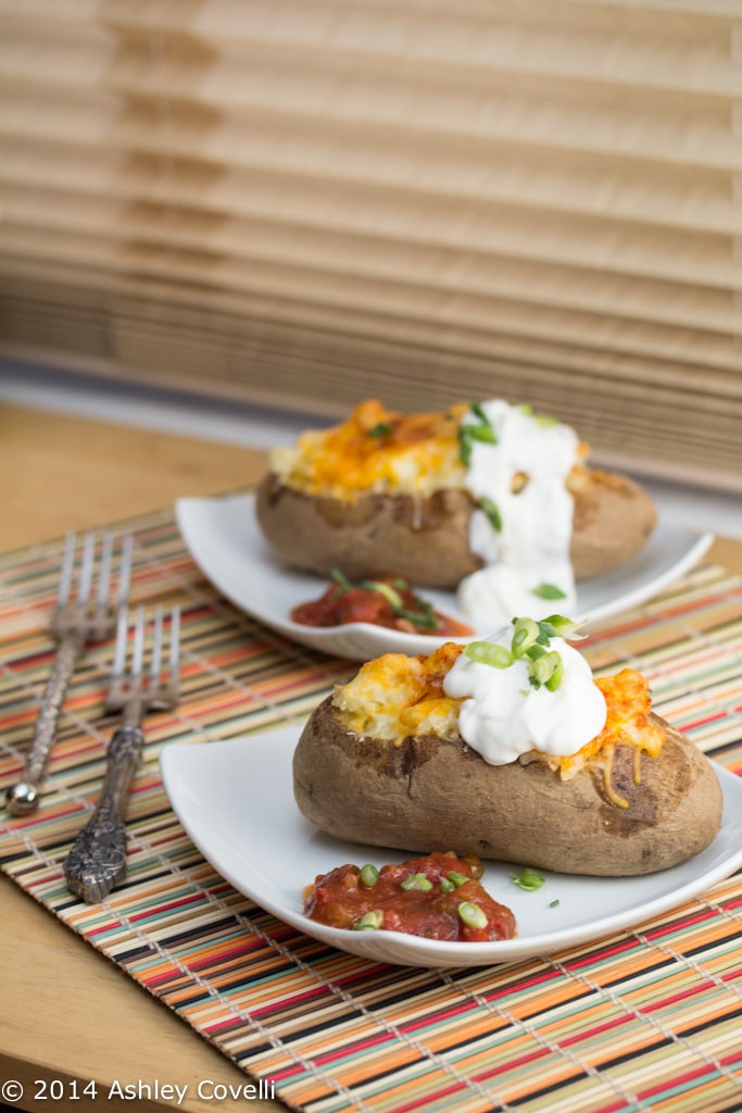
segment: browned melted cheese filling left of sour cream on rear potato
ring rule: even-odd
[[[342,425],[304,433],[276,449],[271,470],[307,494],[353,500],[373,492],[431,494],[464,485],[458,426],[466,406],[448,413],[399,414],[369,400]]]

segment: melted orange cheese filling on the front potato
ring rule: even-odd
[[[356,735],[394,741],[434,735],[461,739],[458,712],[462,699],[446,696],[444,679],[464,647],[446,642],[429,657],[385,653],[364,664],[347,684],[337,686],[333,702],[344,726]],[[613,677],[594,683],[606,703],[603,730],[576,754],[566,757],[530,750],[523,764],[545,761],[570,780],[581,769],[596,767],[603,774],[606,796],[625,807],[611,787],[611,762],[619,742],[635,747],[635,779],[639,782],[639,755],[660,752],[665,738],[661,726],[650,721],[651,697],[644,677],[633,669],[622,669]]]

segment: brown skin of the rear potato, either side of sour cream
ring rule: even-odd
[[[632,480],[585,472],[574,491],[571,556],[575,578],[625,564],[646,543],[654,503]],[[256,515],[274,552],[297,568],[350,580],[399,575],[417,587],[455,589],[482,561],[469,551],[475,503],[465,490],[433,495],[362,495],[354,502],[307,495],[274,473],[258,486]]]

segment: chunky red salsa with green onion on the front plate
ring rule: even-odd
[[[400,865],[338,866],[305,893],[304,914],[354,932],[403,932],[427,939],[512,939],[515,917],[484,889],[476,855],[428,854]]]

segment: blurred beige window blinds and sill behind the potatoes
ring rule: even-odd
[[[0,402],[260,446],[502,396],[742,533],[742,0],[0,20]]]

